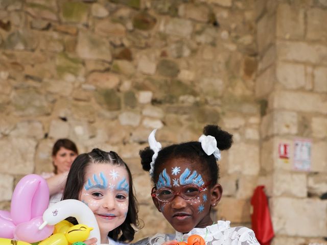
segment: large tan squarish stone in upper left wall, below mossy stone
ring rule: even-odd
[[[109,42],[94,33],[79,31],[76,52],[84,59],[111,61]]]

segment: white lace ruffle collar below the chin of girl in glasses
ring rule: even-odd
[[[221,231],[224,231],[229,228],[230,228],[230,221],[218,220],[217,224],[207,226],[205,228],[193,228],[189,233],[183,234],[181,232],[176,231],[175,239],[177,241],[186,241],[189,236],[191,236],[193,234],[197,234],[197,235],[202,236],[203,238],[204,238],[204,236],[207,236],[206,238],[209,238],[209,240],[212,240],[211,237],[213,236],[214,233],[221,232]],[[208,239],[206,239],[206,240],[208,240]]]

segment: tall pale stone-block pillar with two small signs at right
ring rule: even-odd
[[[319,2],[319,3],[318,3]],[[256,96],[262,101],[261,177],[274,245],[325,244],[327,234],[327,10],[323,1],[256,1]],[[311,167],[294,168],[294,140],[310,139]],[[289,159],[278,154],[289,146]]]

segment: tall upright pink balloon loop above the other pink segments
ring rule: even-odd
[[[42,216],[49,205],[49,187],[38,175],[23,177],[12,194],[10,214],[15,225]]]

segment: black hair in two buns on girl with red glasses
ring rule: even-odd
[[[216,138],[217,147],[220,151],[227,150],[232,144],[232,135],[223,131],[217,125],[207,125],[203,128],[204,135],[211,135]],[[154,152],[149,148],[145,148],[139,152],[141,156],[141,164],[144,170],[150,170],[150,163]],[[156,183],[159,176],[159,166],[165,164],[172,158],[186,158],[192,162],[200,162],[202,170],[209,177],[211,186],[217,184],[219,179],[219,166],[217,165],[215,156],[212,154],[208,156],[202,149],[201,143],[198,141],[184,142],[180,144],[172,144],[158,152],[158,156],[154,163],[154,171],[152,182]]]

